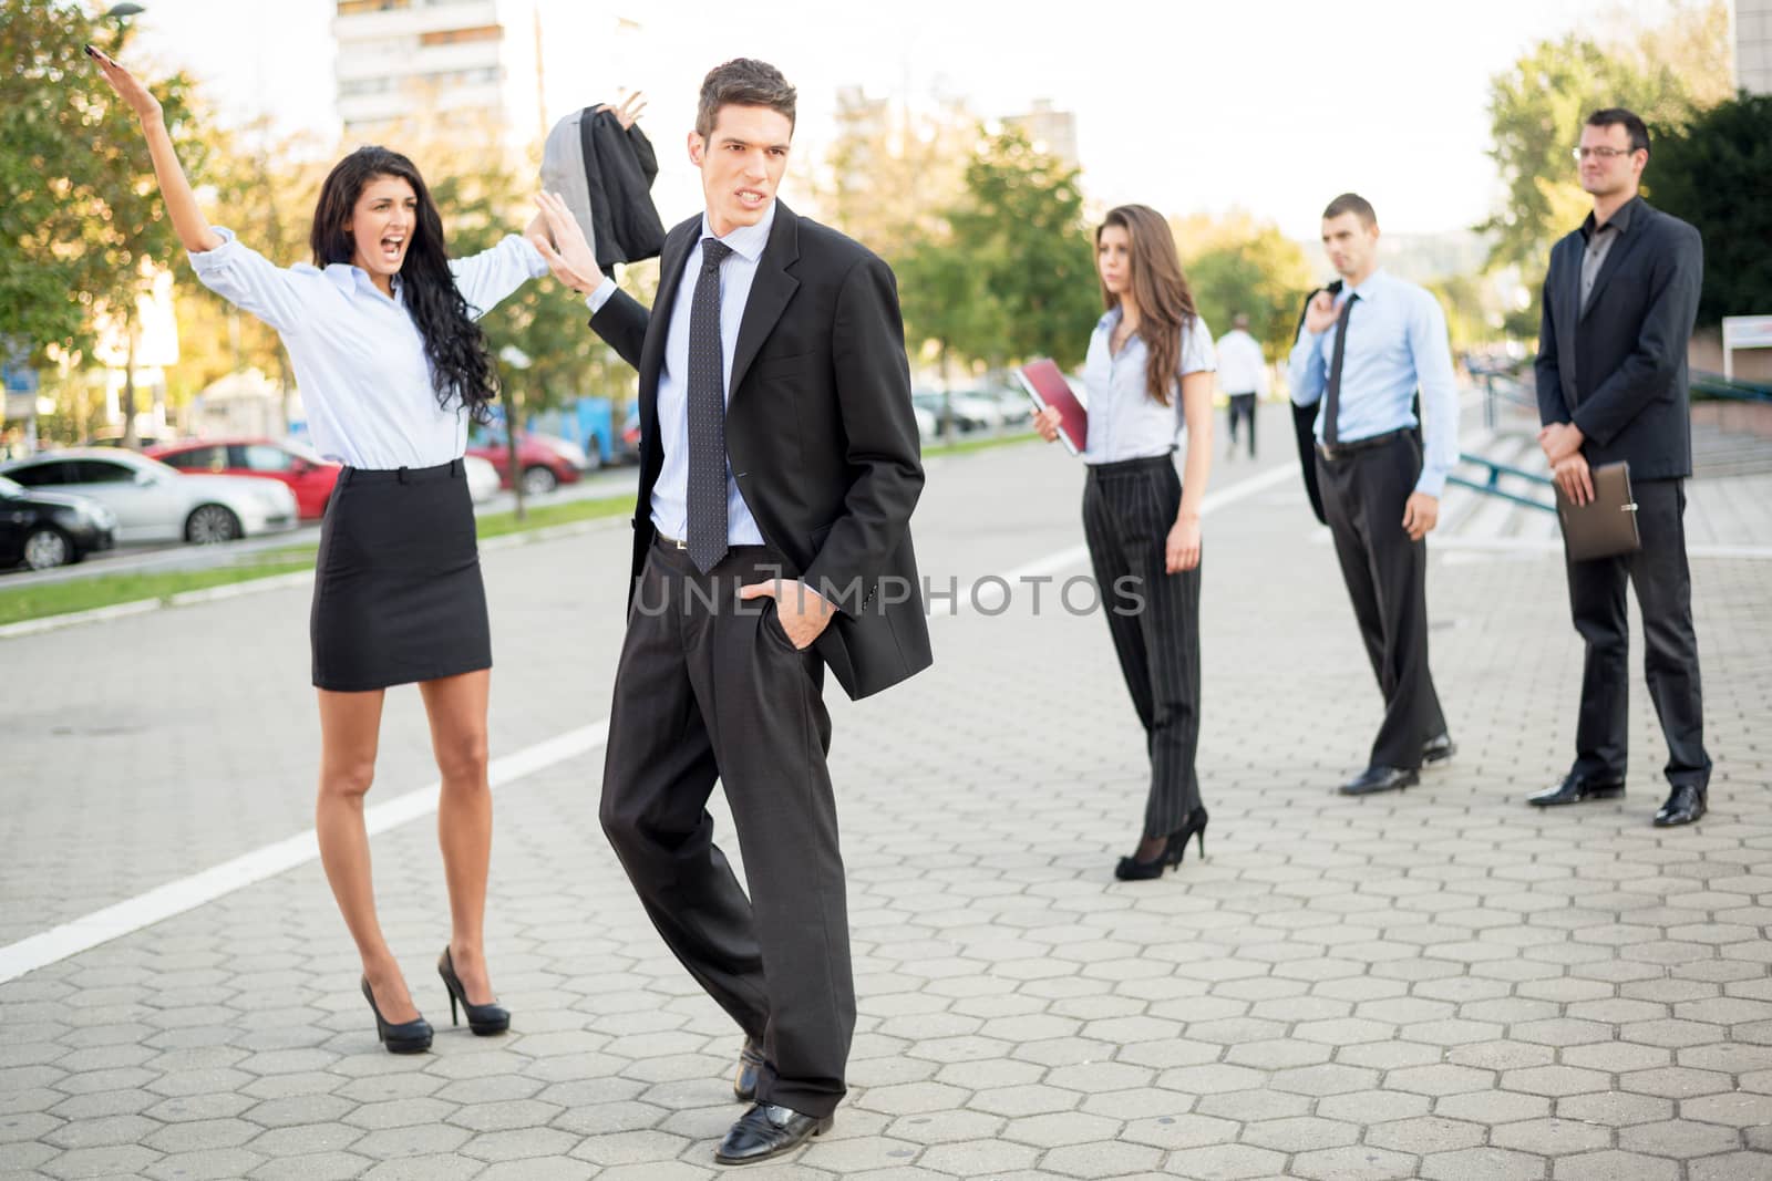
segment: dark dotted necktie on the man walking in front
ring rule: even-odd
[[[727,556],[727,381],[719,347],[719,264],[732,253],[702,239],[689,303],[689,560],[702,574]]]

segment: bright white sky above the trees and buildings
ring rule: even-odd
[[[289,129],[338,135],[333,4],[144,4],[131,48],[202,80],[220,119],[269,113]],[[829,142],[840,87],[914,103],[964,97],[985,119],[1045,97],[1076,112],[1092,202],[1168,214],[1242,209],[1306,239],[1347,189],[1372,200],[1393,234],[1483,220],[1499,197],[1485,154],[1490,76],[1538,39],[1620,19],[1653,25],[1673,9],[1673,0],[516,4],[540,14],[549,120],[618,89],[647,92],[641,126],[659,149],[654,198],[666,223],[700,200],[682,143],[702,74],[730,57],[760,57],[799,89],[797,163],[781,189],[790,204],[810,175],[806,158]]]

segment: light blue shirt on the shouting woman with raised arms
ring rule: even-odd
[[[314,450],[372,471],[434,467],[461,459],[468,414],[438,404],[425,338],[406,310],[402,283],[383,296],[369,273],[347,262],[324,271],[280,267],[214,227],[222,244],[193,251],[198,282],[276,329],[301,388]],[[468,315],[480,319],[548,264],[516,234],[491,250],[450,259]]]

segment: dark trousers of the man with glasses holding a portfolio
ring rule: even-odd
[[[1705,710],[1698,676],[1698,636],[1692,632],[1692,577],[1685,565],[1685,483],[1643,480],[1630,489],[1637,501],[1643,549],[1616,558],[1568,563],[1568,604],[1575,630],[1588,641],[1581,676],[1581,719],[1575,726],[1577,776],[1625,777],[1625,731],[1630,706],[1630,623],[1625,583],[1637,590],[1643,611],[1643,671],[1655,717],[1667,738],[1667,781],[1710,784],[1705,754]]]

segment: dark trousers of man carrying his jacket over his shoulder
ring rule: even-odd
[[[1446,733],[1428,671],[1428,547],[1403,531],[1403,506],[1419,476],[1421,444],[1407,430],[1341,459],[1317,455],[1341,581],[1384,692],[1370,761],[1405,770],[1421,767],[1421,745]]]

